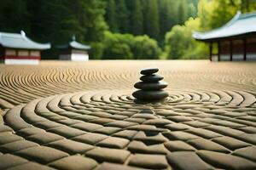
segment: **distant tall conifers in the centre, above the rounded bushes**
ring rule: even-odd
[[[147,34],[163,42],[166,31],[195,17],[197,0],[108,0],[105,19],[110,31]]]

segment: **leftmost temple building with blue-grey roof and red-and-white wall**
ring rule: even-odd
[[[7,65],[37,65],[41,51],[50,44],[33,42],[24,31],[17,33],[0,32],[0,62]]]

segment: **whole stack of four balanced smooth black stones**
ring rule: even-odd
[[[139,100],[160,100],[168,97],[168,93],[163,90],[168,86],[167,82],[161,81],[164,77],[156,75],[158,68],[144,69],[141,71],[143,77],[140,77],[142,82],[135,83],[134,87],[137,90],[132,95]]]

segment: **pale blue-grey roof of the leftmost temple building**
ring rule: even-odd
[[[50,43],[33,42],[26,37],[25,33],[7,33],[0,32],[0,44],[3,48],[20,48],[20,49],[38,49],[44,50],[50,48]]]

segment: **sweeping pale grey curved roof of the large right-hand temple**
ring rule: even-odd
[[[227,37],[240,37],[247,34],[256,33],[256,13],[241,14],[238,12],[236,16],[227,24],[218,29],[193,33],[193,37],[200,41],[211,41],[224,39]]]

